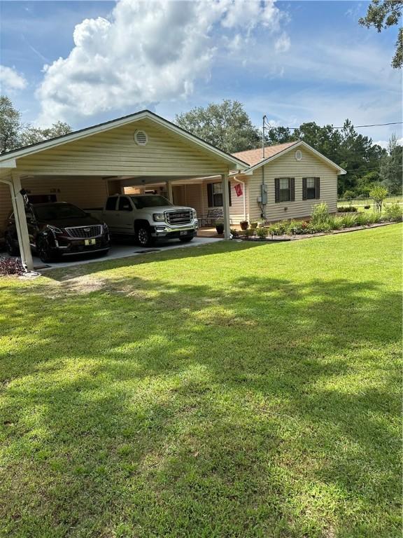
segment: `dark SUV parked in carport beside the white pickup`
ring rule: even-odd
[[[73,254],[106,253],[110,246],[108,226],[66,202],[30,204],[25,209],[31,248],[43,262]],[[6,246],[17,256],[18,240],[14,215],[8,219]]]

